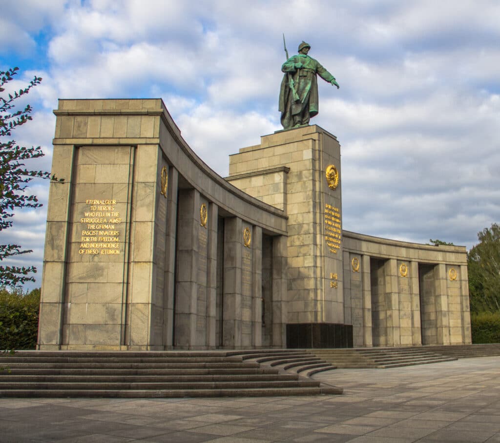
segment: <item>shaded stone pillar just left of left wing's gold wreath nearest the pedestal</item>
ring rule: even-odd
[[[242,223],[237,217],[224,219],[222,347],[241,347],[241,249]]]

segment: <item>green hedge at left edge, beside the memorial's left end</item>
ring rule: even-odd
[[[40,290],[24,294],[0,288],[0,350],[35,349]]]

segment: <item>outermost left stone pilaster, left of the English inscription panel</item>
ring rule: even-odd
[[[37,341],[42,350],[60,349],[62,338],[73,155],[73,145],[54,145],[52,173],[64,182],[49,185]]]

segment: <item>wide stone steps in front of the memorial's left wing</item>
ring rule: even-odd
[[[2,357],[0,397],[260,397],[341,394],[231,352],[18,351]]]

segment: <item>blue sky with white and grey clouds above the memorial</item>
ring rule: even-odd
[[[500,2],[496,0],[18,0],[0,16],[0,69],[33,75],[34,120],[15,132],[50,169],[57,98],[161,97],[218,174],[229,154],[280,129],[285,55],[301,40],[319,79],[312,123],[342,153],[343,227],[471,247],[500,221]],[[42,203],[47,184],[30,190]],[[16,214],[0,242],[33,253],[41,277],[46,205]],[[19,263],[19,261],[17,262]]]

